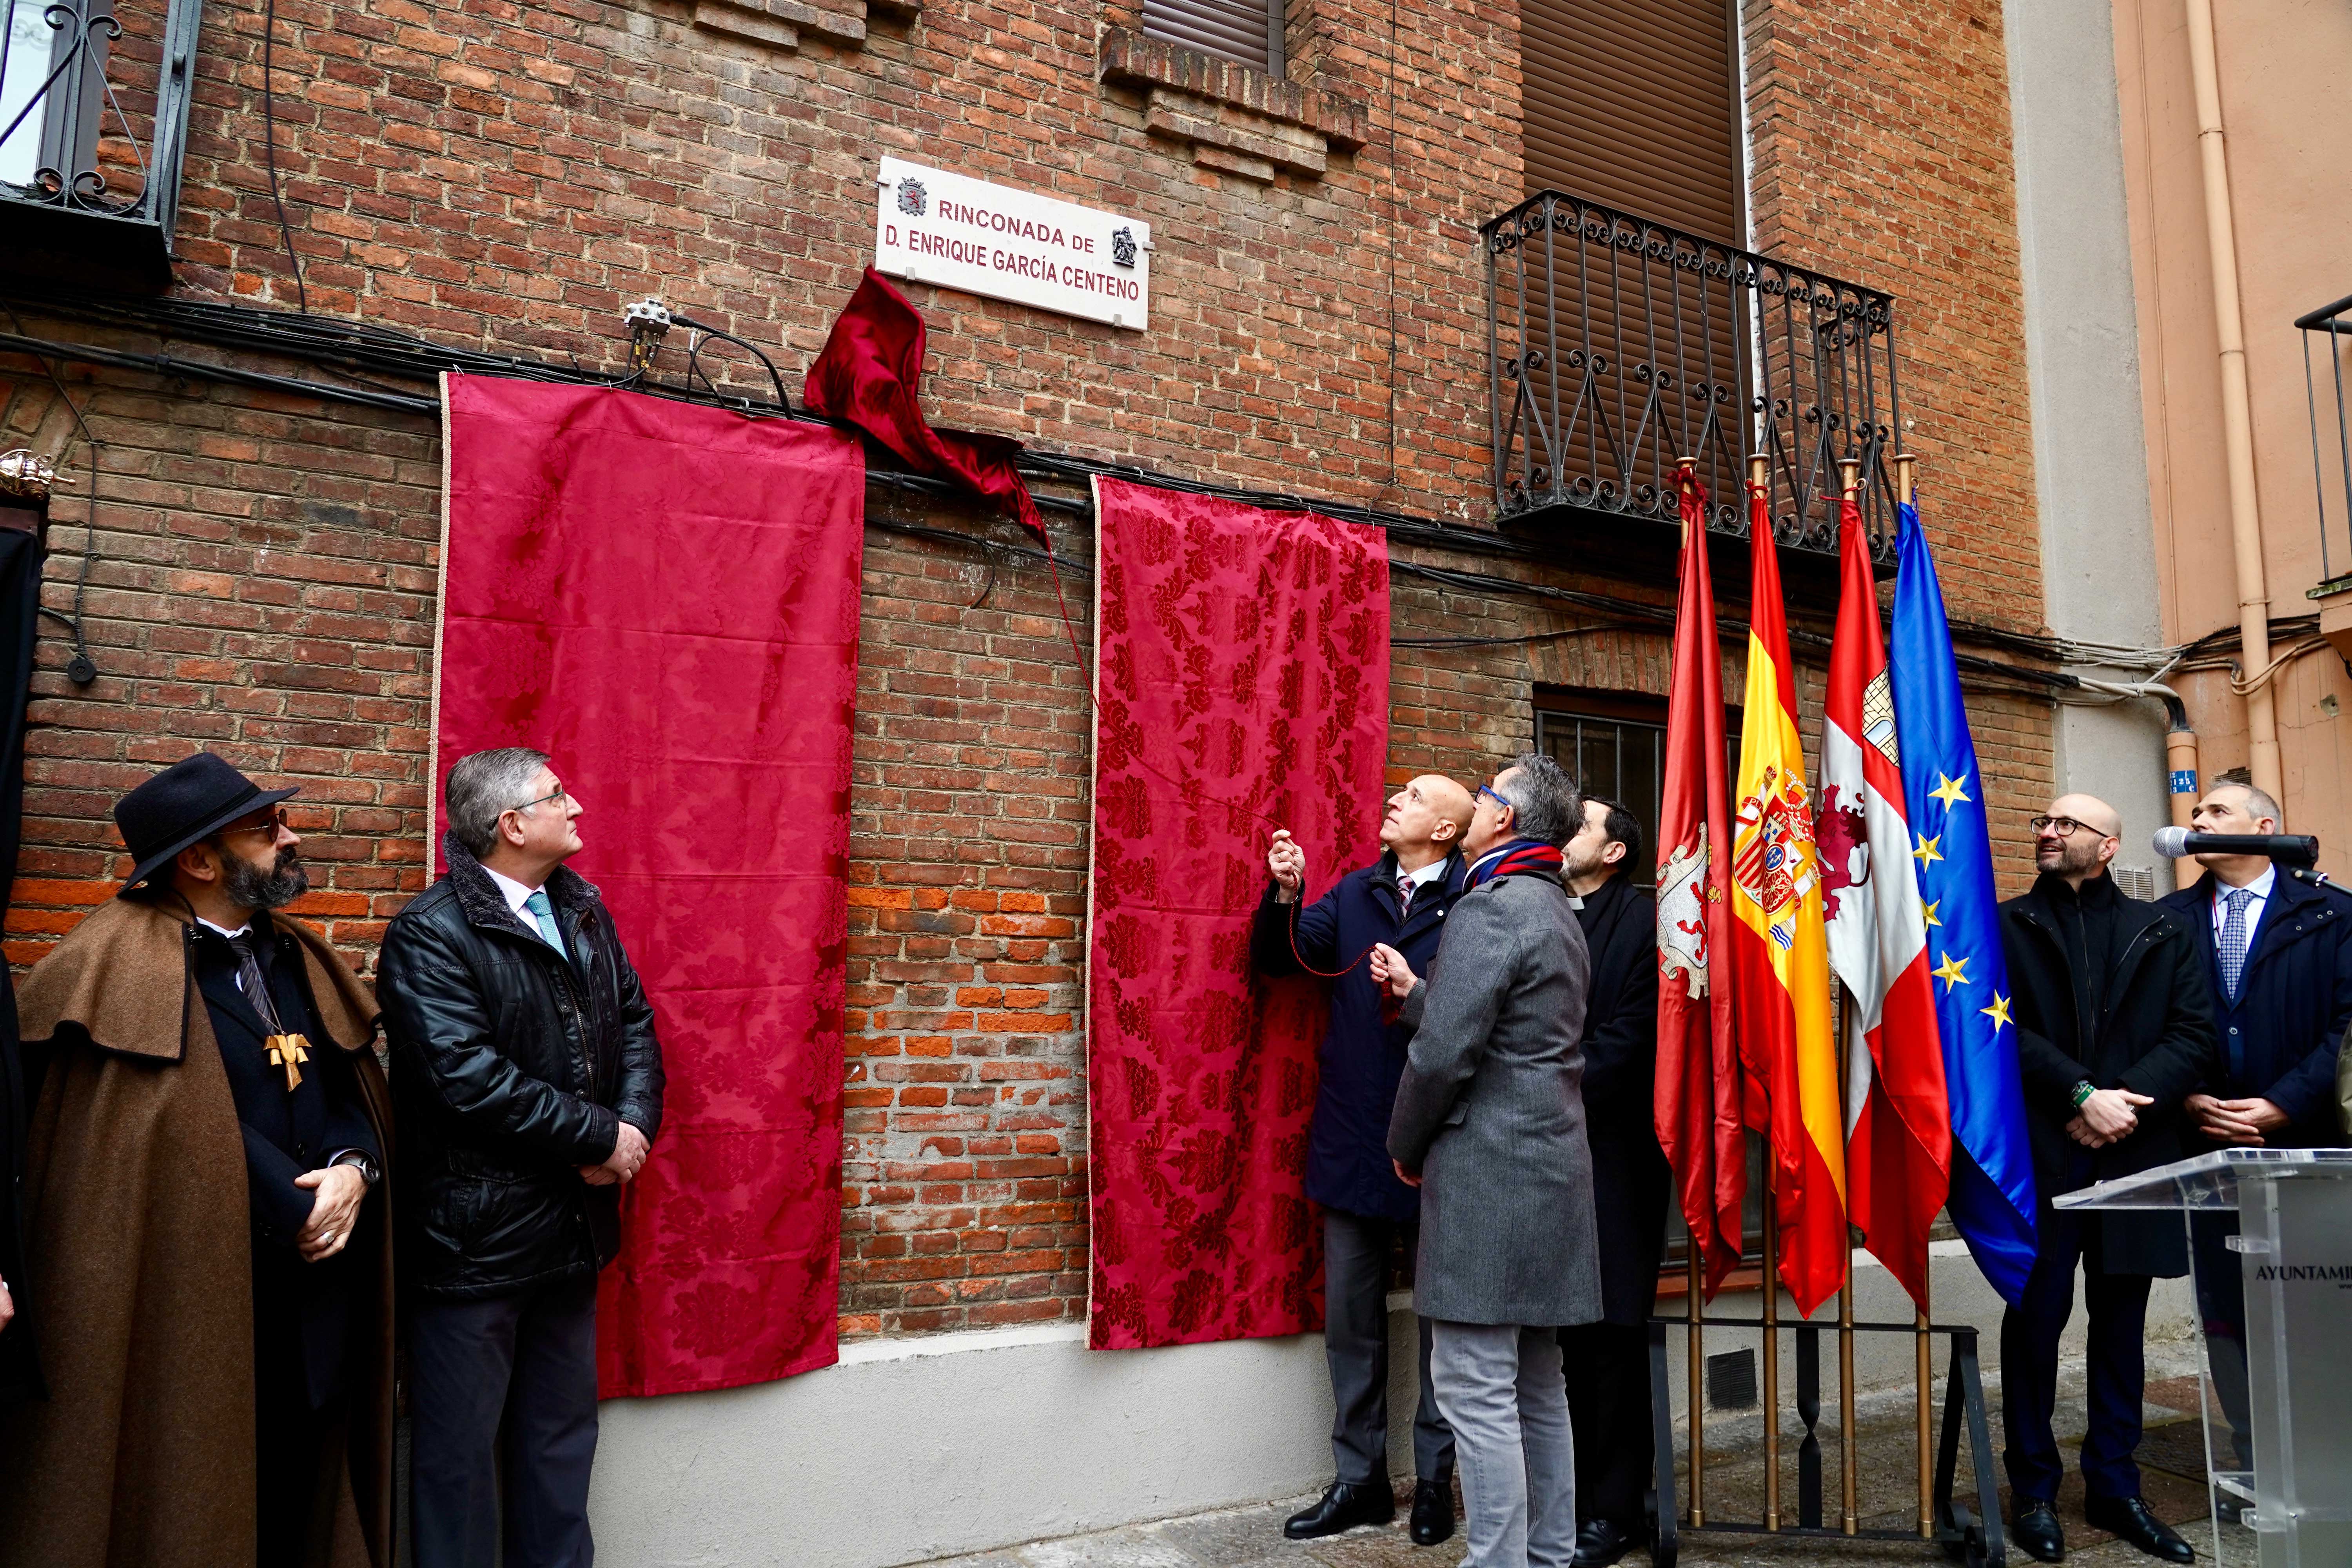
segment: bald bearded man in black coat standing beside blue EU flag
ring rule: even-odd
[[[2190,1544],[2140,1497],[2140,1392],[2147,1286],[2190,1272],[2173,1213],[2051,1208],[2060,1192],[2147,1171],[2187,1150],[2183,1100],[2218,1077],[2204,954],[2178,914],[2126,898],[2107,875],[2122,818],[2091,795],[2063,795],[2032,820],[2039,877],[2002,905],[2025,1124],[2034,1150],[2039,1253],[2025,1295],[2002,1314],[2002,1425],[2009,1432],[2013,1537],[2056,1563],[2063,1462],[2051,1436],[2058,1335],[2084,1274],[2089,1432],[2084,1519],[2169,1563]],[[1971,985],[1966,976],[1945,985]],[[1976,997],[1971,994],[1971,1006]],[[1985,997],[1997,1006],[1997,997]]]

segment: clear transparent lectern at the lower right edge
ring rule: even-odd
[[[2187,1225],[2216,1556],[2237,1519],[2260,1568],[2352,1563],[2352,1150],[2216,1150],[2056,1204]]]

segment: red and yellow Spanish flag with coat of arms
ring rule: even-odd
[[[1820,914],[1813,797],[1797,741],[1771,512],[1748,489],[1750,609],[1740,771],[1731,785],[1731,969],[1740,1060],[1762,1095],[1750,1124],[1771,1140],[1780,1284],[1811,1314],[1846,1276],[1846,1124],[1830,1030],[1830,940]]]

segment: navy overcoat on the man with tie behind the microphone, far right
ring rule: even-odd
[[[2279,867],[2246,947],[2237,1001],[2220,990],[2213,947],[2213,872],[2157,900],[2197,938],[2213,994],[2220,1074],[2206,1093],[2270,1100],[2286,1126],[2270,1147],[2326,1147],[2336,1131],[2336,1051],[2352,1025],[2352,893]]]

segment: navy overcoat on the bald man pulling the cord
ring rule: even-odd
[[[1430,973],[1446,910],[1463,893],[1468,865],[1461,851],[1446,870],[1414,893],[1409,919],[1397,919],[1397,856],[1383,851],[1374,865],[1348,872],[1308,907],[1275,903],[1265,884],[1249,933],[1251,961],[1261,976],[1296,976],[1303,957],[1312,969],[1352,969],[1331,987],[1331,1027],[1317,1053],[1315,1131],[1308,1135],[1308,1197],[1324,1208],[1411,1220],[1421,1194],[1397,1180],[1388,1161],[1388,1117],[1397,1107],[1404,1048],[1414,1030],[1381,1016],[1381,987],[1371,983],[1364,954],[1388,943],[1416,976]],[[1289,917],[1298,912],[1298,957],[1291,957]]]

